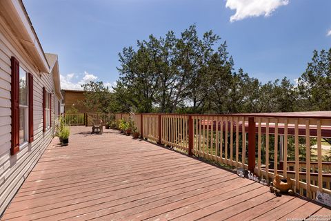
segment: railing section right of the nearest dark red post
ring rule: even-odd
[[[306,195],[308,198],[315,198],[316,192],[331,194],[330,191],[330,163],[323,162],[321,139],[329,136],[331,119],[312,117],[254,117],[257,127],[257,168],[255,172],[268,179],[279,173],[283,177],[290,177],[294,189]],[[305,129],[304,131],[302,129]],[[299,133],[299,129],[301,132]],[[262,131],[265,131],[263,137]],[[279,134],[279,131],[282,131]],[[299,144],[299,137],[304,138],[304,144]],[[264,138],[264,139],[263,139]],[[292,152],[290,154],[290,138]],[[279,139],[283,145],[279,148]],[[311,157],[311,142],[317,144],[317,158]],[[273,147],[270,143],[273,142]],[[270,148],[274,149],[273,156],[270,155]],[[282,151],[283,154],[279,153]],[[264,159],[261,158],[264,155]],[[294,160],[288,160],[293,157]],[[270,164],[270,157],[273,158]],[[305,159],[304,162],[300,158]],[[265,166],[262,166],[265,165]],[[273,168],[270,170],[269,166]]]

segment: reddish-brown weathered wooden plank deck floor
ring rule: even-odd
[[[52,141],[2,220],[286,220],[330,209],[117,131]],[[321,216],[321,218],[325,218]],[[329,216],[330,218],[330,216]],[[326,219],[325,219],[326,220]]]

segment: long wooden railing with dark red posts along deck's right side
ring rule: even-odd
[[[115,119],[129,119],[116,114]],[[331,193],[331,163],[322,159],[321,139],[331,137],[331,115],[180,115],[135,114],[141,137],[271,181],[290,177],[308,198]],[[300,141],[299,141],[300,140]],[[311,157],[312,143],[317,157]],[[284,170],[285,169],[285,170]]]

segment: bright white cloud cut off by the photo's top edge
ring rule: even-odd
[[[248,17],[268,17],[280,6],[286,6],[289,0],[225,0],[226,8],[236,10],[230,21],[239,21]]]

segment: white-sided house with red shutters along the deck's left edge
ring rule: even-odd
[[[21,0],[0,0],[0,214],[54,135],[61,88]]]

